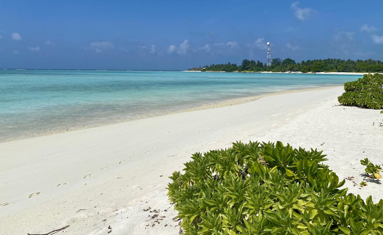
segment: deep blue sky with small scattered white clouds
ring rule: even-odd
[[[383,2],[0,1],[0,68],[184,70],[211,63],[383,60]]]

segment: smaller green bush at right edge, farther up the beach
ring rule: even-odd
[[[345,92],[338,97],[344,105],[383,109],[383,75],[365,74],[357,81],[344,83]]]

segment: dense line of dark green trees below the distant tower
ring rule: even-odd
[[[290,58],[282,60],[274,58],[270,66],[254,60],[242,60],[241,65],[226,64],[206,65],[200,68],[191,68],[189,71],[225,71],[225,72],[383,72],[383,62],[380,60],[341,60],[341,59],[325,59],[325,60],[306,60],[295,62]]]

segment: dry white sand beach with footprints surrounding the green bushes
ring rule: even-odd
[[[277,94],[0,143],[0,234],[43,234],[69,225],[65,234],[176,235],[167,177],[182,170],[191,154],[237,140],[324,150],[340,179],[355,177],[356,186],[349,180],[344,185],[350,193],[378,202],[380,182],[359,187],[360,159],[383,163],[383,114],[340,106],[342,92],[336,87]]]

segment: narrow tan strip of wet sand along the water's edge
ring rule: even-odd
[[[262,97],[266,97],[266,96],[276,96],[279,94],[288,94],[288,93],[303,92],[303,91],[315,91],[315,90],[331,89],[331,88],[336,88],[336,87],[341,87],[341,86],[321,86],[321,87],[316,87],[316,88],[291,89],[291,90],[286,90],[286,91],[270,92],[270,93],[265,93],[265,94],[256,95],[256,96],[246,96],[246,97],[240,97],[240,98],[235,98],[235,99],[226,99],[226,100],[222,100],[222,101],[219,101],[216,103],[202,104],[202,105],[199,105],[197,107],[180,109],[180,110],[173,111],[173,112],[153,112],[153,113],[150,113],[148,115],[141,115],[141,116],[136,117],[136,118],[126,118],[126,119],[116,118],[115,120],[109,120],[107,122],[100,122],[100,123],[97,123],[95,125],[88,125],[88,126],[79,125],[79,126],[72,126],[69,128],[57,127],[56,129],[45,131],[45,132],[40,131],[37,133],[29,133],[29,134],[25,134],[25,135],[21,135],[21,136],[17,136],[17,137],[3,138],[0,140],[0,143],[17,141],[17,140],[21,140],[21,139],[36,138],[36,137],[41,137],[41,136],[56,135],[56,134],[60,134],[60,133],[70,132],[70,131],[83,130],[83,129],[95,128],[95,127],[100,127],[100,126],[108,126],[108,125],[113,125],[113,124],[117,124],[117,123],[131,122],[131,121],[135,121],[135,120],[165,116],[165,115],[170,115],[170,114],[175,114],[175,113],[184,113],[184,112],[191,112],[191,111],[197,111],[197,110],[215,109],[215,108],[226,107],[226,106],[231,106],[231,105],[245,104],[247,102],[251,102],[251,101],[260,99]]]

